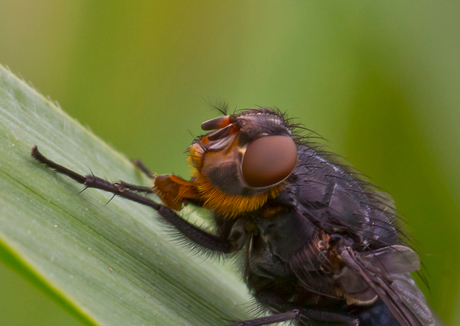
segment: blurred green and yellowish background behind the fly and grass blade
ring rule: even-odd
[[[452,0],[1,0],[0,63],[159,173],[187,176],[207,102],[287,110],[394,197],[460,325],[459,17]],[[79,325],[1,263],[0,324]]]

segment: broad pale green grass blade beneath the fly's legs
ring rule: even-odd
[[[79,194],[81,185],[32,160],[33,145],[82,174],[148,185],[126,157],[0,66],[3,261],[87,325],[248,317],[246,288],[228,265],[171,243],[151,209],[121,198],[105,205],[111,196],[94,189]]]

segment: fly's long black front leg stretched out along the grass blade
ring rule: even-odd
[[[177,215],[173,210],[170,208],[160,205],[153,200],[146,198],[144,196],[139,195],[136,192],[128,190],[130,187],[126,187],[129,184],[121,184],[121,183],[110,183],[104,179],[93,175],[86,175],[83,176],[78,174],[62,165],[59,165],[45,156],[43,156],[37,149],[37,147],[32,148],[32,157],[35,158],[37,161],[45,164],[46,166],[56,170],[57,172],[68,176],[69,178],[75,180],[76,182],[85,185],[88,188],[96,188],[101,189],[114,195],[135,201],[139,204],[149,206],[156,210],[160,216],[172,225],[177,231],[181,234],[189,238],[194,243],[218,252],[229,253],[235,251],[238,248],[238,245],[233,243],[228,239],[216,236],[214,234],[210,234],[206,231],[201,230],[200,228],[194,226],[193,224],[185,221],[179,215]],[[133,185],[131,189],[137,187]],[[140,189],[140,188],[138,188]]]

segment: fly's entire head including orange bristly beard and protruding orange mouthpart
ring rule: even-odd
[[[215,118],[201,125],[208,134],[189,148],[192,179],[164,175],[155,188],[163,202],[187,202],[226,217],[258,209],[276,197],[297,163],[297,147],[279,115],[265,109]]]

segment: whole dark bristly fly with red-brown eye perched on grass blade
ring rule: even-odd
[[[39,162],[89,188],[149,206],[204,250],[243,251],[244,281],[270,316],[231,326],[441,325],[410,273],[418,255],[400,237],[384,193],[315,147],[304,128],[266,108],[201,125],[189,147],[190,180],[156,176],[134,164],[152,187],[83,176],[43,156]],[[159,204],[148,198],[155,193]],[[210,210],[216,233],[177,215],[185,205]]]

